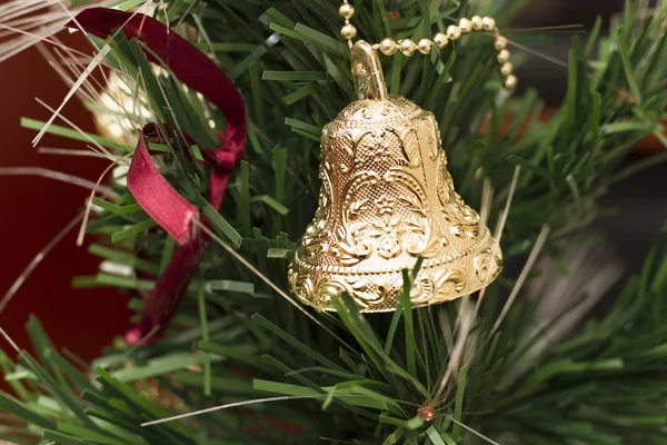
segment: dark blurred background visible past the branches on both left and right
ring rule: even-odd
[[[621,0],[536,0],[516,27],[544,27],[583,23],[590,27],[598,13],[606,19],[623,6]],[[586,34],[584,31],[581,38]],[[574,32],[551,32],[554,43],[536,49],[567,60],[567,49]],[[64,36],[79,49],[87,46],[77,36]],[[566,86],[566,70],[531,57],[518,73],[522,85],[537,88],[557,106]],[[50,113],[34,101],[36,97],[57,107],[68,88],[48,67],[36,50],[0,66],[0,128],[2,160],[0,166],[42,166],[97,180],[106,161],[38,155],[30,141],[34,131],[19,126],[22,116],[46,120]],[[64,116],[83,129],[92,130],[86,110],[72,100]],[[60,138],[44,138],[43,147],[77,147]],[[661,150],[656,140],[641,144],[635,161],[649,152]],[[603,204],[620,214],[599,220],[596,227],[608,235],[624,258],[629,271],[636,271],[650,247],[657,230],[667,219],[665,167],[654,168],[610,190]],[[88,191],[70,185],[34,177],[0,176],[2,201],[0,231],[0,295],[12,285],[34,255],[81,210]],[[74,230],[76,233],[76,230]],[[99,259],[74,245],[70,234],[37,268],[9,307],[0,314],[2,326],[21,347],[28,346],[24,324],[34,313],[59,346],[74,350],[83,358],[97,356],[115,335],[122,334],[127,323],[126,297],[110,289],[72,290],[73,275],[97,273]],[[4,345],[2,345],[4,348]]]

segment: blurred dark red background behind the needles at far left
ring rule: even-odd
[[[68,44],[91,53],[81,36],[62,36]],[[36,131],[20,127],[21,117],[47,120],[50,112],[34,99],[57,108],[68,87],[36,49],[0,65],[0,126],[2,167],[40,166],[97,181],[106,160],[72,156],[40,155],[31,146]],[[93,130],[88,112],[78,99],[63,116],[86,130]],[[62,122],[56,122],[62,125]],[[47,136],[40,147],[86,149],[82,144]],[[74,218],[89,191],[40,177],[0,176],[2,218],[0,219],[0,295],[10,288],[32,258]],[[74,275],[97,273],[99,259],[76,246],[74,228],[38,266],[10,305],[0,314],[0,326],[28,347],[24,325],[31,313],[42,322],[59,346],[83,358],[98,356],[127,323],[126,297],[112,289],[72,290]],[[4,343],[4,342],[2,342]],[[2,345],[8,349],[7,345]],[[13,354],[12,354],[13,356]]]

